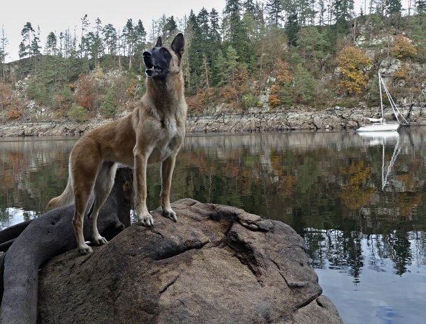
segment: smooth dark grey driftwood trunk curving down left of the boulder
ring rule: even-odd
[[[98,217],[98,230],[109,239],[130,224],[132,182],[130,169],[117,170],[115,185]],[[50,258],[77,247],[73,212],[73,205],[47,212],[12,239],[0,266],[0,323],[37,322],[38,269]],[[84,233],[91,240],[87,216]]]

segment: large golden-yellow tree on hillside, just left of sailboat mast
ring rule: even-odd
[[[372,64],[372,60],[365,52],[355,46],[346,46],[337,56],[339,83],[337,87],[347,94],[360,94],[367,87],[368,75],[365,68]]]

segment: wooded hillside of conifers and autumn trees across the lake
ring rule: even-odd
[[[325,109],[376,105],[375,75],[397,62],[392,91],[422,100],[426,69],[426,0],[226,0],[216,9],[128,19],[115,27],[85,15],[81,25],[40,39],[37,22],[22,26],[20,60],[5,63],[0,31],[0,111],[20,120],[30,102],[54,118],[117,117],[145,91],[142,51],[161,36],[184,33],[183,71],[192,113],[221,106]],[[50,117],[52,118],[52,116]]]

